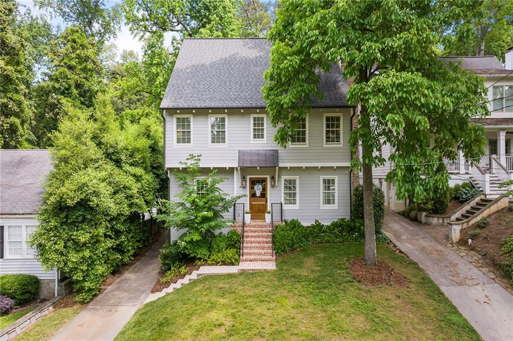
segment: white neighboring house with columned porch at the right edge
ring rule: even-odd
[[[473,121],[484,125],[486,142],[484,156],[479,160],[468,160],[458,151],[456,160],[446,160],[451,175],[450,185],[470,181],[483,190],[489,198],[506,193],[499,184],[513,179],[513,47],[506,51],[504,66],[496,56],[456,56],[443,59],[459,62],[461,67],[484,77],[488,88],[488,108],[490,116]],[[383,146],[385,159],[390,155],[390,146]],[[384,192],[387,206],[394,210],[404,209],[408,201],[399,200],[395,195],[395,186],[385,181],[392,169],[391,162],[372,169],[374,183]]]

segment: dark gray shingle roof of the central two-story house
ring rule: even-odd
[[[265,38],[184,39],[160,107],[265,108],[260,90],[270,49]],[[321,75],[319,88],[326,98],[314,107],[348,106],[349,84],[337,67]]]

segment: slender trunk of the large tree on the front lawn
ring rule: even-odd
[[[361,128],[368,132],[364,134],[370,138],[370,116],[367,108],[361,105],[360,109]],[[368,141],[362,139],[362,174],[363,174],[363,217],[365,223],[365,264],[368,266],[378,265],[376,255],[376,231],[374,230],[374,203],[372,200],[372,164],[366,161],[372,150]],[[366,158],[367,156],[367,158]]]

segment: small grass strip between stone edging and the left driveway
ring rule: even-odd
[[[33,326],[29,327],[29,329],[16,337],[16,341],[48,340],[81,310],[81,307],[57,309],[37,321]]]

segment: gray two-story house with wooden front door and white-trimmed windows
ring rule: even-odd
[[[281,148],[261,92],[270,48],[265,38],[184,39],[161,103],[170,200],[181,191],[172,171],[189,154],[201,154],[203,174],[217,169],[227,178],[226,193],[246,195],[240,203],[252,220],[268,210],[304,224],[349,218],[349,84],[338,68],[321,74],[325,99],[315,100],[293,141]]]

